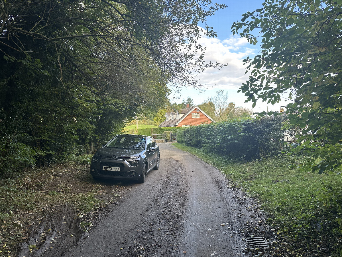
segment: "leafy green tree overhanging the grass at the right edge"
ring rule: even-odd
[[[274,104],[288,95],[292,101],[286,112],[291,125],[301,129],[298,141],[304,142],[297,149],[313,157],[307,168],[339,170],[342,1],[268,0],[263,5],[232,26],[233,34],[262,42],[261,54],[244,60],[250,76],[240,91],[253,106],[258,99]]]

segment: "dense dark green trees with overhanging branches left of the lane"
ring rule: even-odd
[[[1,175],[91,153],[163,107],[167,83],[195,85],[188,69],[219,66],[196,42],[197,23],[225,7],[209,0],[1,3]]]

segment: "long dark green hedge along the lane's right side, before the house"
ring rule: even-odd
[[[191,126],[177,131],[177,141],[208,152],[246,160],[280,154],[285,116]]]

